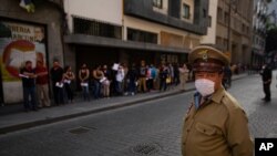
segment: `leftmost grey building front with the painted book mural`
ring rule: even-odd
[[[22,102],[19,69],[25,61],[63,62],[62,0],[6,0],[0,6],[0,100]]]

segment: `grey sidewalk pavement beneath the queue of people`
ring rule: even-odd
[[[233,80],[238,80],[246,77],[248,74],[243,73],[239,75],[234,75]],[[194,91],[195,86],[193,82],[186,84],[186,91]],[[59,121],[64,121],[78,116],[84,116],[93,113],[115,110],[119,107],[124,107],[129,105],[140,104],[142,102],[162,98],[171,95],[176,95],[183,93],[177,87],[170,89],[165,92],[150,92],[143,94],[136,94],[134,96],[119,96],[101,100],[91,100],[90,102],[83,102],[81,98],[72,104],[65,104],[60,106],[52,106],[49,108],[42,108],[38,112],[17,112],[10,114],[0,115],[0,135],[30,128],[43,124],[50,124]],[[3,106],[9,107],[9,106]],[[3,108],[2,107],[2,108]],[[22,106],[21,106],[22,107]],[[0,110],[2,110],[0,108]]]

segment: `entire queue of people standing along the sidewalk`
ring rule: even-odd
[[[185,83],[189,80],[191,71],[186,64],[146,64],[131,66],[114,63],[113,66],[98,65],[94,69],[83,63],[76,71],[76,76],[70,65],[62,67],[59,61],[54,61],[50,72],[42,61],[37,61],[35,67],[31,61],[27,61],[20,71],[23,83],[24,110],[38,111],[41,107],[61,105],[74,102],[75,89],[82,91],[84,101],[91,98],[135,95],[152,91],[164,92],[178,86],[185,90]],[[53,103],[49,96],[49,77],[53,93]]]

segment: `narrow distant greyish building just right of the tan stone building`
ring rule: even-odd
[[[264,62],[266,45],[267,0],[255,0],[253,11],[252,64],[260,66]]]

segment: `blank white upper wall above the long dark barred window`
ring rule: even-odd
[[[122,24],[122,0],[64,0],[70,32],[73,30],[72,15]]]

